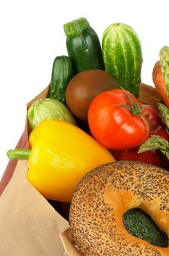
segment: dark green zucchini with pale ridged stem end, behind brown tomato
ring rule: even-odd
[[[85,18],[73,20],[64,25],[66,47],[74,72],[87,69],[104,70],[103,54],[98,35]]]

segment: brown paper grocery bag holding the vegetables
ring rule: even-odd
[[[28,102],[47,97],[49,86]],[[139,101],[156,105],[161,101],[156,89],[141,84]],[[16,148],[28,148],[25,130]],[[0,182],[0,255],[3,256],[82,256],[74,246],[66,219],[29,184],[28,160],[9,161]],[[64,216],[64,214],[63,214]]]

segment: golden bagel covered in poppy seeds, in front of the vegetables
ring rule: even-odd
[[[131,208],[146,211],[169,236],[169,172],[136,161],[111,162],[87,173],[76,187],[70,208],[74,243],[86,256],[167,256],[130,235],[122,216]]]

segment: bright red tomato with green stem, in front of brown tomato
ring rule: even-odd
[[[149,135],[149,122],[143,115],[136,116],[127,109],[131,105],[141,108],[133,94],[122,89],[105,91],[91,102],[88,111],[90,132],[106,148],[135,148]]]

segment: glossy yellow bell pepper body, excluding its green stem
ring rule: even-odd
[[[109,151],[95,139],[65,121],[42,121],[31,132],[29,143],[28,181],[51,200],[70,202],[77,184],[87,172],[114,161]]]

